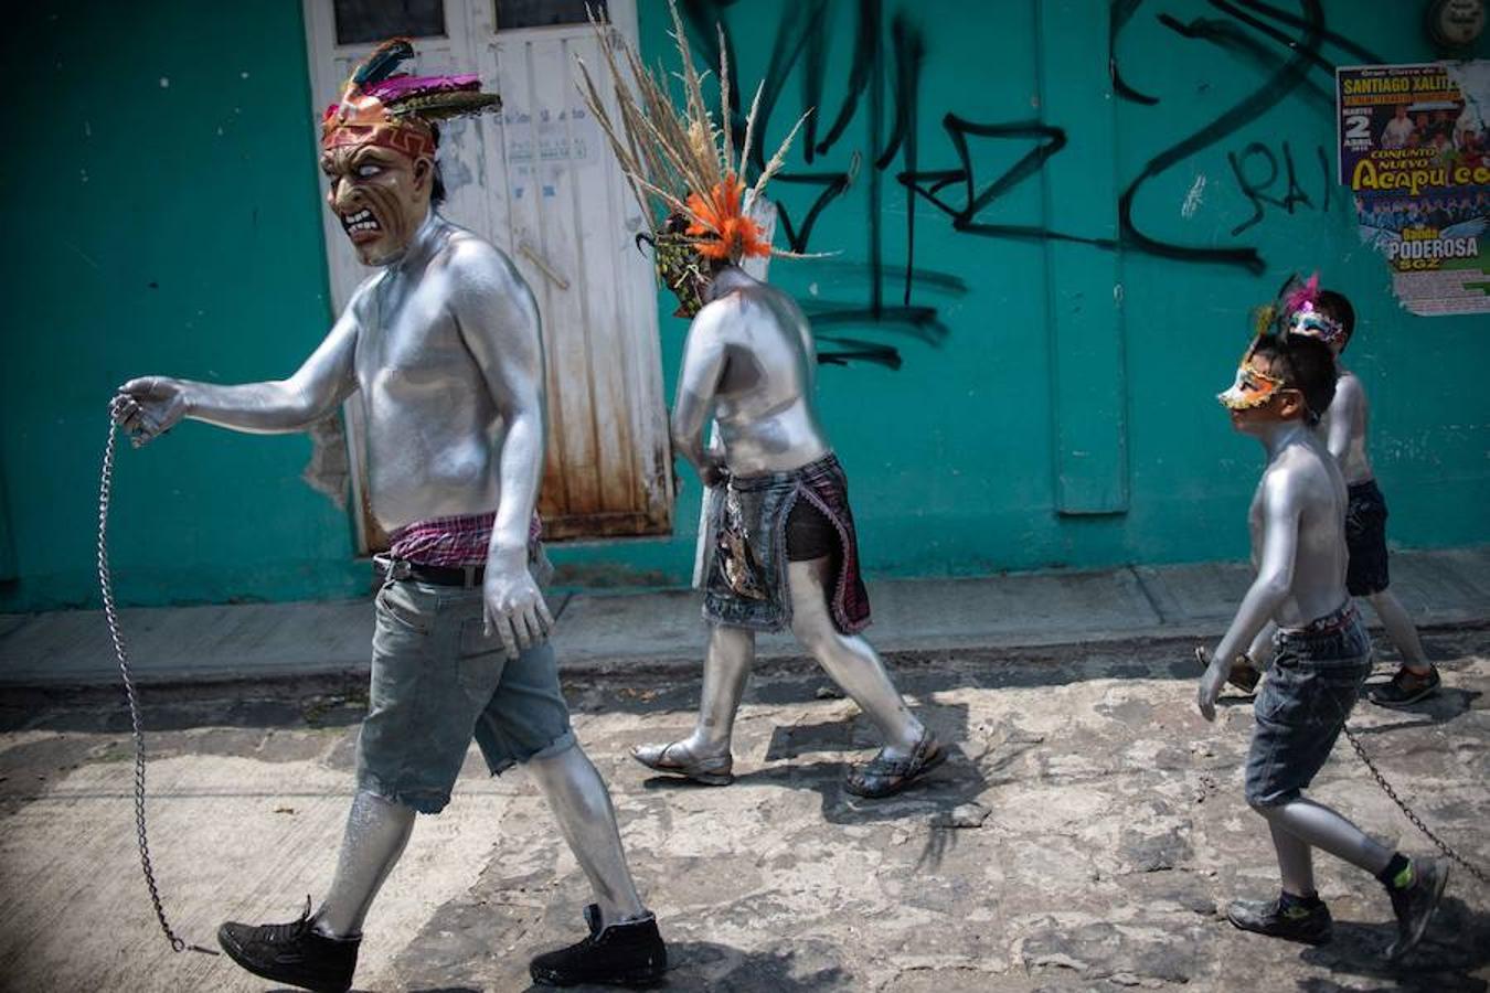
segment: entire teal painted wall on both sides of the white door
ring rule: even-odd
[[[666,55],[663,3],[641,6],[647,55]],[[970,575],[1244,554],[1261,453],[1231,433],[1213,396],[1247,339],[1247,310],[1289,271],[1313,268],[1362,317],[1347,357],[1374,400],[1392,539],[1490,540],[1481,384],[1490,320],[1421,319],[1396,305],[1383,261],[1360,249],[1317,159],[1323,147],[1332,170],[1331,76],[1310,68],[1292,89],[1275,85],[1289,49],[1202,0],[1119,6],[1132,16],[1116,33],[1118,66],[1158,103],[1107,95],[1100,0],[830,0],[821,16],[802,0],[691,6],[699,24],[727,22],[746,95],[775,61],[767,143],[818,107],[811,161],[799,141],[788,162],[800,182],[772,188],[799,229],[824,183],[858,159],[805,246],[837,255],[778,261],[772,278],[818,314],[824,351],[860,356],[824,366],[820,393],[869,570]],[[0,167],[15,301],[0,363],[0,485],[19,576],[0,582],[0,610],[95,600],[97,459],[116,383],[155,371],[282,375],[331,317],[298,4],[143,10],[34,4],[13,16],[4,42],[25,80],[12,115],[28,144]],[[864,24],[864,10],[879,10],[879,22]],[[1432,57],[1416,3],[1326,0],[1322,13],[1338,33],[1317,49],[1331,63],[1368,61],[1342,40],[1384,61]],[[1199,34],[1186,37],[1192,24]],[[1207,24],[1231,28],[1205,36]],[[808,71],[815,45],[824,46],[818,73]],[[882,100],[869,86],[851,100],[855,67],[872,77],[876,54]],[[919,71],[897,68],[912,64]],[[1235,113],[1249,104],[1255,115]],[[898,180],[961,168],[948,115],[974,131],[966,138],[974,197],[1033,149],[1053,149],[964,211],[963,229],[924,197],[912,211]],[[901,119],[913,141],[893,141]],[[1213,140],[1165,155],[1196,134]],[[1266,152],[1249,152],[1255,144]],[[1271,199],[1237,232],[1253,202],[1229,156],[1264,179],[1269,155]],[[918,182],[952,213],[967,205],[966,180]],[[1155,252],[1140,238],[1180,247]],[[1256,262],[1201,258],[1213,250],[1252,250]],[[684,335],[670,310],[660,301],[669,395]],[[308,448],[302,438],[185,424],[122,453],[121,598],[365,588],[346,514],[298,478]],[[675,537],[554,549],[566,582],[684,582],[699,487],[685,469],[682,478]]]

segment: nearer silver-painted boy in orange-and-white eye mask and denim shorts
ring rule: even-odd
[[[1345,481],[1314,430],[1334,392],[1334,357],[1323,344],[1259,336],[1219,397],[1232,426],[1262,442],[1268,464],[1249,514],[1256,579],[1208,658],[1198,706],[1214,721],[1229,661],[1275,622],[1277,655],[1256,700],[1246,795],[1268,822],[1283,890],[1272,901],[1237,901],[1226,917],[1243,930],[1328,941],[1331,916],[1314,887],[1317,847],[1386,886],[1399,927],[1389,954],[1398,959],[1426,930],[1447,866],[1408,861],[1302,794],[1371,673],[1371,639],[1345,590]]]

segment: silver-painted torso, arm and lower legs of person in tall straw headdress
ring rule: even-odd
[[[703,310],[688,328],[672,444],[706,484],[727,473],[755,475],[800,469],[828,454],[814,408],[817,350],[812,328],[788,295],[738,266],[720,271]],[[706,450],[703,429],[718,421],[720,448]],[[791,630],[824,670],[875,722],[887,758],[907,755],[925,728],[906,709],[873,646],[845,636],[828,610],[830,560],[790,563]],[[700,759],[727,756],[735,713],[755,658],[751,631],[715,627],[703,662],[699,722],[682,747]]]

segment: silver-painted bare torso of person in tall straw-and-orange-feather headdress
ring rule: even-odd
[[[817,351],[802,308],[781,290],[727,269],[688,329],[675,430],[702,430],[712,405],[735,475],[781,472],[830,451],[814,405]],[[687,451],[684,453],[687,454]]]

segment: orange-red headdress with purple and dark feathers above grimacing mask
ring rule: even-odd
[[[320,147],[380,144],[410,158],[434,156],[434,122],[499,110],[502,98],[481,92],[474,73],[410,76],[396,71],[414,58],[408,39],[383,42],[362,60],[338,103],[320,121]]]

